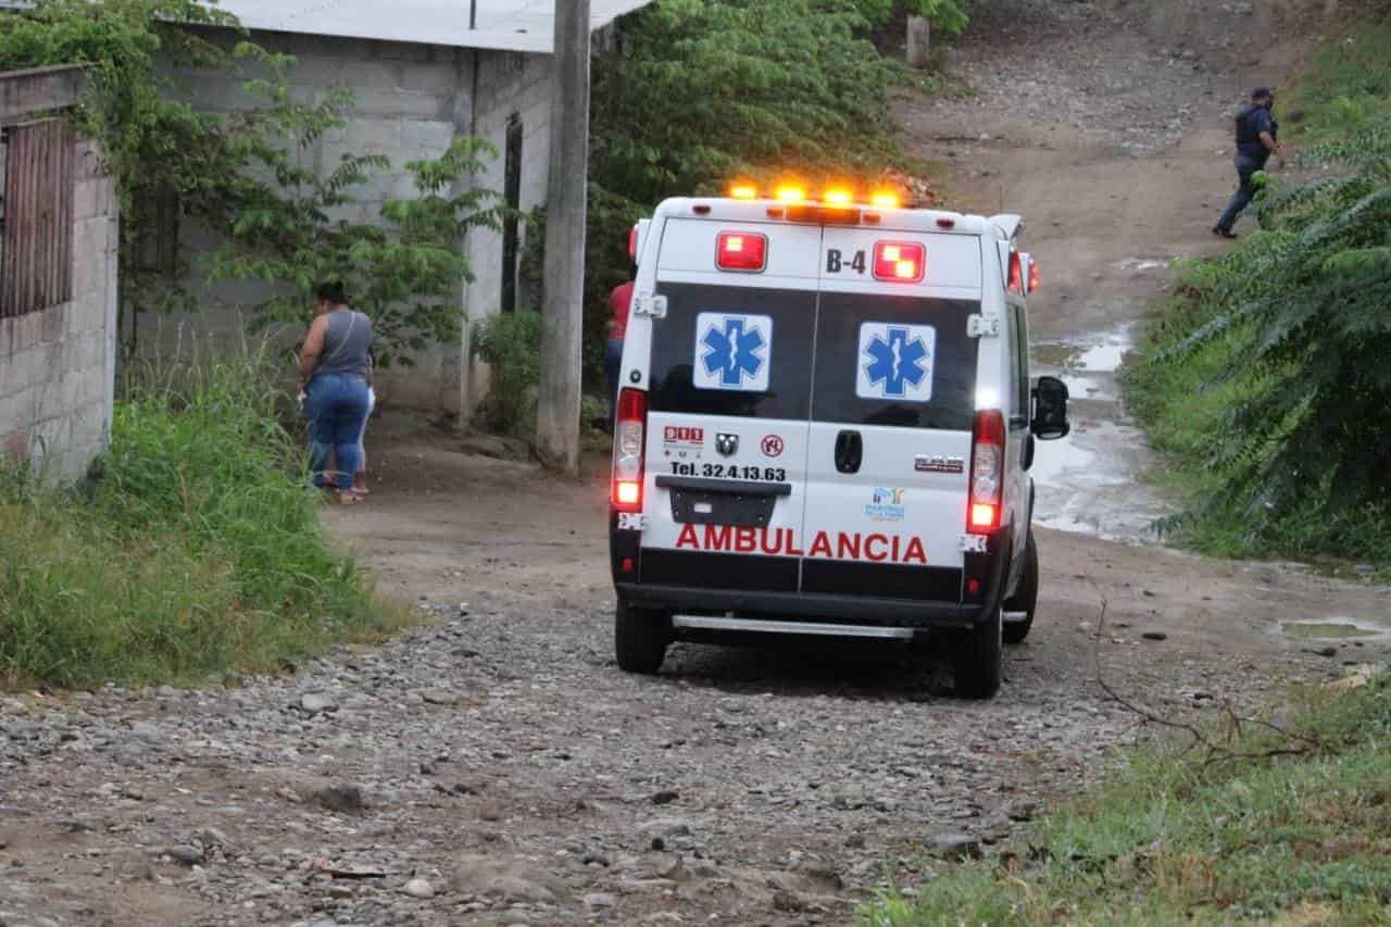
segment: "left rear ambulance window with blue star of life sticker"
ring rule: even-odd
[[[664,283],[652,322],[651,408],[805,419],[817,294]]]

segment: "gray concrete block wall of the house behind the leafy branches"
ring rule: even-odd
[[[408,161],[438,157],[456,138],[470,134],[487,138],[498,150],[497,159],[488,161],[472,182],[502,192],[506,122],[513,113],[523,124],[520,207],[530,210],[545,202],[551,99],[548,56],[313,35],[257,32],[252,38],[273,52],[295,56],[289,81],[296,99],[321,99],[332,88],[351,89],[357,97],[352,121],[325,134],[319,145],[302,153],[307,163],[328,171],[348,153],[384,154],[391,160],[391,170],[359,188],[355,192],[359,202],[335,217],[374,221],[384,200],[415,195],[405,168]],[[178,78],[203,110],[230,113],[256,104],[236,75],[188,72]],[[181,230],[181,248],[195,264],[198,255],[216,244],[216,234],[210,235],[207,230]],[[498,312],[501,305],[502,235],[485,228],[474,230],[465,249],[477,277],[463,294],[466,317],[473,320]],[[199,288],[195,285],[193,290]],[[214,344],[227,348],[241,345],[246,310],[267,295],[263,287],[245,283],[203,290],[199,296],[204,312],[193,319],[146,315],[142,317],[140,341],[146,347],[168,349],[179,338],[186,342],[191,335],[211,335]],[[309,309],[306,306],[306,313]],[[299,334],[284,333],[277,342],[287,347]],[[487,390],[487,372],[483,365],[467,359],[467,335],[462,345],[441,345],[415,359],[415,367],[380,373],[378,393],[387,404],[472,413],[472,406]],[[292,376],[288,362],[287,376]],[[465,379],[467,390],[462,388]]]

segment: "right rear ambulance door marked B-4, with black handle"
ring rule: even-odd
[[[823,231],[803,592],[961,600],[975,235]]]

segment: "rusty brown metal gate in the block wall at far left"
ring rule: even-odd
[[[4,142],[0,319],[72,298],[72,125],[11,125]]]

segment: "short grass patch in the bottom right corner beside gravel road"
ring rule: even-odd
[[[1008,853],[860,923],[1391,924],[1391,672],[1284,713],[1209,728],[1213,750],[1138,749]]]

